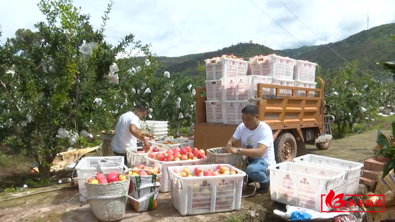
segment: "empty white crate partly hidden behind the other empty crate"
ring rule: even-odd
[[[314,164],[317,166],[341,170],[346,173],[346,183],[341,187],[340,193],[356,194],[358,190],[359,176],[363,172],[363,163],[348,160],[324,157],[320,155],[307,154],[293,158],[293,161],[304,164]],[[344,196],[345,199],[351,196]]]

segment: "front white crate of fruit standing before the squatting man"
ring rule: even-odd
[[[246,176],[246,173],[229,164],[221,165],[235,170],[237,174],[181,177],[173,171],[181,172],[187,167],[190,172],[194,172],[195,167],[198,166],[202,170],[215,170],[218,164],[171,166],[167,168],[166,171],[169,174],[169,180],[171,180],[171,202],[182,216],[240,209],[243,177]]]

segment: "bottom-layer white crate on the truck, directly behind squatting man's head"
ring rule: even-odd
[[[229,125],[239,125],[243,122],[241,110],[249,104],[257,105],[256,102],[250,101],[221,101],[222,103],[222,122]]]

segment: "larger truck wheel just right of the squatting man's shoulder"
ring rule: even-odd
[[[278,136],[274,142],[276,149],[276,161],[285,162],[292,161],[296,157],[296,140],[289,132],[284,132]]]

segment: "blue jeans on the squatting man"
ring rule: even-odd
[[[260,187],[269,188],[269,170],[267,167],[270,164],[263,159],[255,158],[248,160],[248,166],[246,167],[246,173],[248,177],[260,184]]]

